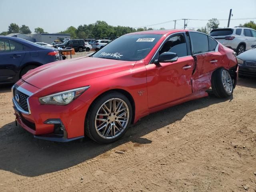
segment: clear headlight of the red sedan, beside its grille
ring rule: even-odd
[[[67,105],[72,102],[75,98],[85,92],[90,86],[76,88],[72,90],[62,91],[48,96],[39,98],[41,104],[50,105]]]

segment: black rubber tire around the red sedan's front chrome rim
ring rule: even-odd
[[[102,136],[100,136],[100,134],[96,130],[95,118],[96,118],[96,114],[97,114],[98,110],[101,108],[101,106],[106,101],[113,99],[113,98],[121,99],[128,106],[128,109],[129,109],[129,112],[127,112],[127,114],[129,114],[129,118],[127,121],[128,123],[127,123],[126,127],[124,128],[124,130],[122,132],[120,132],[119,135],[116,136],[115,138],[103,138]],[[87,112],[84,132],[85,132],[85,135],[88,136],[89,138],[91,138],[92,140],[94,140],[98,143],[108,144],[108,143],[112,143],[112,142],[115,142],[116,140],[120,139],[128,130],[128,127],[130,126],[131,121],[132,121],[132,105],[131,105],[130,101],[123,94],[120,94],[119,92],[112,91],[112,92],[108,92],[108,93],[100,96],[100,98],[96,99],[92,103],[92,105],[90,106],[90,108]],[[112,128],[111,128],[111,132],[112,132]],[[103,135],[104,135],[104,133],[103,133]]]

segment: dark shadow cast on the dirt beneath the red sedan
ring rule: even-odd
[[[129,128],[119,141],[106,145],[88,138],[68,143],[37,140],[12,122],[0,129],[0,169],[22,176],[39,176],[80,164],[126,142],[133,142],[134,146],[149,144],[152,141],[143,138],[146,134],[181,120],[191,111],[227,100],[208,96],[150,114]]]

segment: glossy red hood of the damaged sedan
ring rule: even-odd
[[[135,61],[82,57],[40,66],[26,73],[22,79],[37,88],[45,89],[129,70],[135,63]]]

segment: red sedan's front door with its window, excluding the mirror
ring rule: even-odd
[[[152,61],[163,52],[178,55],[176,62],[146,65],[148,108],[179,100],[192,94],[191,76],[194,59],[191,56],[188,37],[185,32],[168,37]]]

